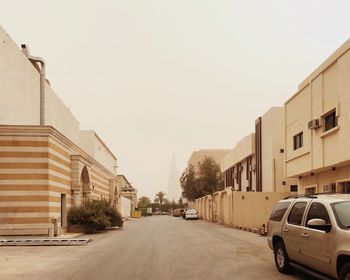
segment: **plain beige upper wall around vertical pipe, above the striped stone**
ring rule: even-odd
[[[38,125],[39,73],[1,26],[0,61],[0,124]],[[54,126],[78,144],[79,122],[47,83],[45,115],[46,125]]]

